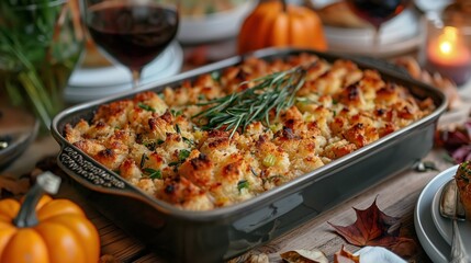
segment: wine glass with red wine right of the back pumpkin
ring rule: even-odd
[[[404,11],[411,0],[345,0],[350,10],[373,27],[373,49],[380,45],[381,25]]]

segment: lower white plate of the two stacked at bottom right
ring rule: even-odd
[[[436,263],[448,262],[451,248],[435,227],[430,206],[437,191],[450,180],[450,172],[453,169],[456,168],[445,170],[424,187],[414,209],[414,226],[418,241],[427,255]]]

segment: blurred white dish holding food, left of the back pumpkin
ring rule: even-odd
[[[214,42],[234,37],[238,34],[244,19],[254,9],[257,1],[247,2],[224,12],[201,18],[182,18],[177,38],[183,43]]]

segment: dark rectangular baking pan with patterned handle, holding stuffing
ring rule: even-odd
[[[206,211],[182,210],[144,194],[64,138],[66,124],[91,119],[100,105],[132,98],[142,90],[77,105],[58,114],[52,124],[52,134],[61,148],[58,163],[101,213],[156,253],[168,256],[171,262],[194,262],[195,259],[221,262],[266,243],[373,184],[410,169],[429,152],[438,117],[447,103],[440,91],[378,60],[305,49],[263,49],[249,56],[270,60],[300,53],[315,54],[329,61],[351,59],[361,68],[377,69],[384,79],[403,84],[415,96],[431,98],[436,110],[403,129],[259,196]],[[144,90],[159,92],[182,80],[237,65],[244,58],[236,56],[188,71],[166,83],[146,85]]]

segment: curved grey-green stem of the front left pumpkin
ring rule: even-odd
[[[56,194],[59,190],[60,178],[47,171],[40,174],[36,184],[27,191],[20,211],[13,219],[13,224],[19,228],[33,227],[38,224],[36,206],[43,194]]]

